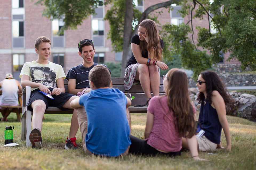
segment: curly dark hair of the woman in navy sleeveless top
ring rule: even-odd
[[[212,103],[211,97],[214,90],[219,92],[225,104],[230,103],[231,98],[227,91],[227,88],[217,73],[215,73],[214,71],[203,71],[200,74],[206,82],[206,96],[210,104]],[[197,100],[199,101],[198,103],[202,103],[205,100],[205,95],[200,92],[197,96]]]

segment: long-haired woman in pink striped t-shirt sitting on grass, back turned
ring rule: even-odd
[[[138,155],[181,155],[181,140],[185,137],[191,157],[200,159],[195,138],[196,111],[190,102],[187,75],[171,69],[163,76],[166,95],[154,96],[147,109],[145,141],[130,135],[129,152]]]

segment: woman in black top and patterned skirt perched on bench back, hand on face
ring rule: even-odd
[[[139,24],[138,34],[131,39],[133,52],[126,65],[124,86],[129,90],[132,85],[141,83],[146,95],[147,103],[153,96],[159,95],[159,68],[167,70],[168,66],[162,62],[163,40],[160,38],[154,21],[145,19]]]

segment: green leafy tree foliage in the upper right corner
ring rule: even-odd
[[[164,25],[167,42],[170,42],[171,54],[181,58],[182,66],[194,71],[194,76],[202,70],[218,63],[221,53],[231,52],[228,60],[241,61],[241,69],[250,67],[256,70],[256,3],[255,0],[184,0],[180,1],[180,11],[183,17],[195,12],[188,23],[176,25]],[[196,9],[196,10],[195,10]],[[211,14],[211,15],[210,15]],[[194,18],[207,17],[209,28],[197,27],[198,44],[192,39],[187,39],[188,33],[194,33],[192,25]],[[213,17],[212,17],[213,16]],[[217,33],[211,32],[210,23]],[[200,51],[201,46],[205,50]],[[210,51],[210,55],[206,54]]]

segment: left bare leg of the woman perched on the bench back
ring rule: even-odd
[[[146,98],[151,98],[152,96],[150,92],[149,67],[146,64],[139,64],[135,80],[140,81],[142,90],[144,91]]]

